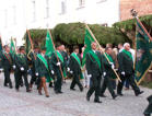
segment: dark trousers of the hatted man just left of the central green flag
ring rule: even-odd
[[[72,80],[72,83],[70,85],[70,89],[73,89],[75,86],[75,84],[78,84],[80,90],[83,88],[82,84],[80,83],[79,76],[80,74],[77,72],[73,73],[73,80]]]

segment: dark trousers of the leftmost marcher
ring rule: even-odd
[[[10,79],[10,72],[11,72],[11,68],[4,69],[4,85],[7,85],[9,83],[9,86],[12,86],[12,81]]]

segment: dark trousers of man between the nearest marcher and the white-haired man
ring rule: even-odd
[[[106,88],[108,88],[110,95],[114,96],[115,92],[114,92],[114,88],[113,88],[113,81],[107,76],[104,78],[104,82],[103,82],[103,85],[101,89],[101,95],[105,93]]]

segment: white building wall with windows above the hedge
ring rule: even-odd
[[[82,4],[80,4],[80,1]],[[15,9],[14,9],[15,8]],[[0,34],[3,44],[26,28],[52,28],[59,23],[107,23],[119,21],[119,0],[4,0],[0,3]]]

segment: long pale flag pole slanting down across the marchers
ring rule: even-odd
[[[86,26],[86,28],[89,30],[89,32],[91,33],[91,35],[92,35],[92,37],[94,38],[95,43],[97,44],[97,46],[100,47],[100,49],[102,50],[102,53],[104,54],[104,56],[105,56],[106,60],[107,60],[107,61],[108,61],[108,63],[109,63],[109,62],[110,62],[110,61],[109,61],[109,59],[108,59],[108,58],[107,58],[107,56],[105,55],[105,51],[102,49],[102,47],[101,47],[101,45],[98,44],[97,39],[95,38],[94,34],[92,33],[92,31],[90,30],[90,27],[87,26],[87,24],[85,24],[85,26]],[[116,70],[115,70],[115,69],[113,69],[113,71],[114,71],[114,73],[116,74],[116,77],[117,77],[118,81],[120,81],[120,82],[121,82],[121,80],[120,80],[120,78],[119,78],[118,73],[116,72]]]

